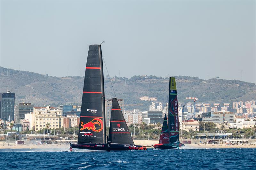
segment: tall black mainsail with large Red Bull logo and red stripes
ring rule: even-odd
[[[103,63],[100,45],[90,45],[86,62],[78,144],[106,143]]]

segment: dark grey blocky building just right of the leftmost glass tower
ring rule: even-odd
[[[33,112],[34,105],[31,103],[19,103],[15,105],[15,123],[23,124],[25,115]]]

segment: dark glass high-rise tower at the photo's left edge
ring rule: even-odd
[[[14,120],[14,99],[15,94],[10,91],[0,93],[0,119],[4,121]]]

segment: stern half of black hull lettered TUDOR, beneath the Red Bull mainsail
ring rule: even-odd
[[[70,144],[70,151],[72,151],[73,148],[106,151],[107,144],[100,144],[100,143]]]

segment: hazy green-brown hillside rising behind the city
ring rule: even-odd
[[[232,103],[234,101],[255,100],[256,85],[238,80],[209,79],[175,76],[178,101],[191,102],[186,97],[198,97],[200,103]],[[105,98],[114,97],[109,78],[105,78]],[[151,102],[141,101],[141,96],[157,97],[163,107],[168,100],[169,78],[156,76],[133,76],[111,78],[116,97],[124,99],[125,109],[148,110]],[[0,91],[7,89],[15,93],[15,103],[30,102],[37,106],[51,104],[81,104],[84,78],[52,77],[27,71],[18,71],[0,67]]]

